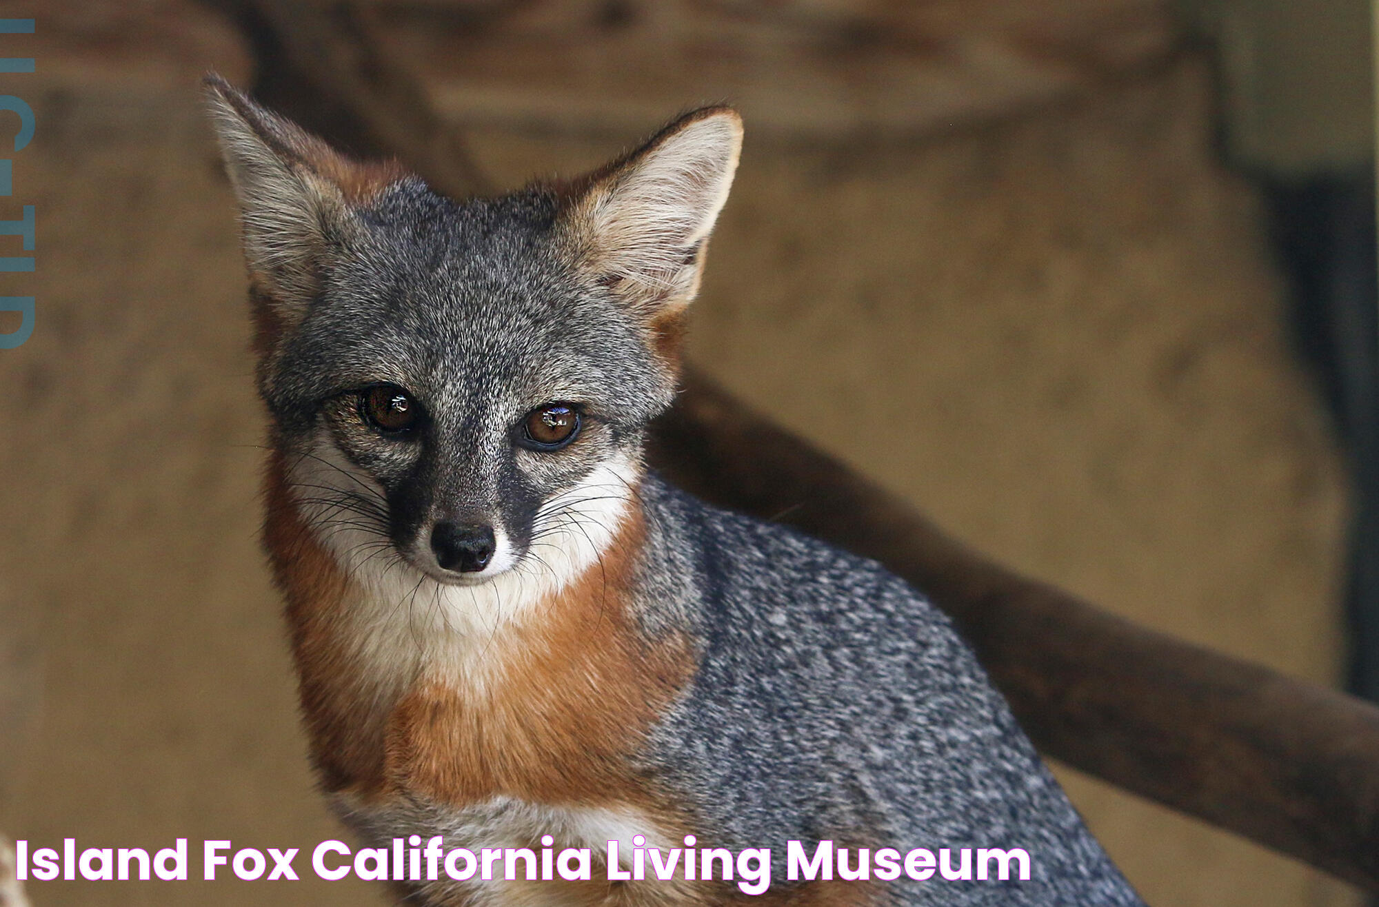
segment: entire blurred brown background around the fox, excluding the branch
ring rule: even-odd
[[[363,6],[498,186],[738,105],[696,363],[1019,571],[1379,692],[1364,0]],[[0,350],[0,830],[309,850],[339,830],[256,543],[263,419],[197,84],[248,84],[248,48],[192,0],[0,17],[37,18],[0,39],[36,59],[0,92],[37,120],[0,205],[37,210],[37,269],[4,276],[37,316]],[[1150,904],[1361,903],[1055,768]],[[383,903],[310,878],[30,896]]]

